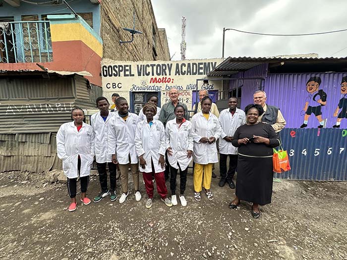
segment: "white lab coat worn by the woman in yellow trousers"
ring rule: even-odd
[[[209,119],[203,116],[202,112],[193,115],[191,119],[194,135],[194,162],[199,164],[208,164],[218,162],[216,143],[201,143],[202,137],[210,138],[214,136],[216,140],[221,135],[221,128],[218,125],[218,118],[211,112]]]

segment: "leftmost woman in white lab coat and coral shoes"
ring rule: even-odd
[[[76,187],[77,177],[81,182],[80,201],[84,205],[90,204],[86,197],[89,183],[90,169],[94,160],[94,131],[84,123],[84,112],[81,108],[71,111],[72,122],[64,123],[57,133],[57,154],[62,159],[62,169],[67,177],[67,191],[71,198],[69,211],[77,207]]]

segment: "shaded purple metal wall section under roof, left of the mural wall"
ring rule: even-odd
[[[264,63],[254,68],[251,68],[245,72],[236,74],[235,78],[265,78],[268,73],[268,63]],[[235,80],[230,81],[230,89],[234,87]],[[262,86],[262,80],[243,80],[242,97],[241,97],[241,109],[247,104],[253,104],[253,93],[259,90]]]

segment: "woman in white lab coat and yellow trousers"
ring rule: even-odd
[[[201,200],[204,187],[207,198],[214,199],[211,187],[212,166],[218,162],[216,140],[221,135],[218,118],[210,112],[212,100],[206,96],[201,100],[201,112],[191,119],[194,135],[194,199]]]

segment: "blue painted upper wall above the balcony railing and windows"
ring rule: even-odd
[[[75,0],[69,3],[77,13],[93,13],[93,29],[100,36],[100,4],[93,4],[89,0]],[[65,4],[42,6],[26,2],[20,3],[19,7],[13,7],[6,2],[0,6],[0,17],[13,16],[14,21],[21,21],[22,15],[41,15],[45,14],[70,14],[71,10]]]

